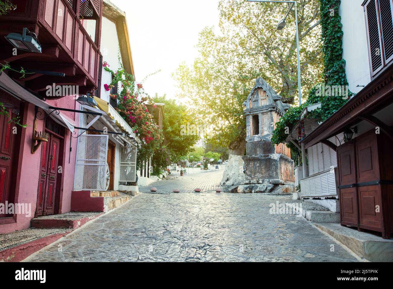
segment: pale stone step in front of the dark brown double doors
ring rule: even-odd
[[[382,239],[379,232],[359,232],[354,227],[344,227],[337,223],[314,223],[334,239],[348,247],[360,258],[371,262],[392,262],[393,240]]]

